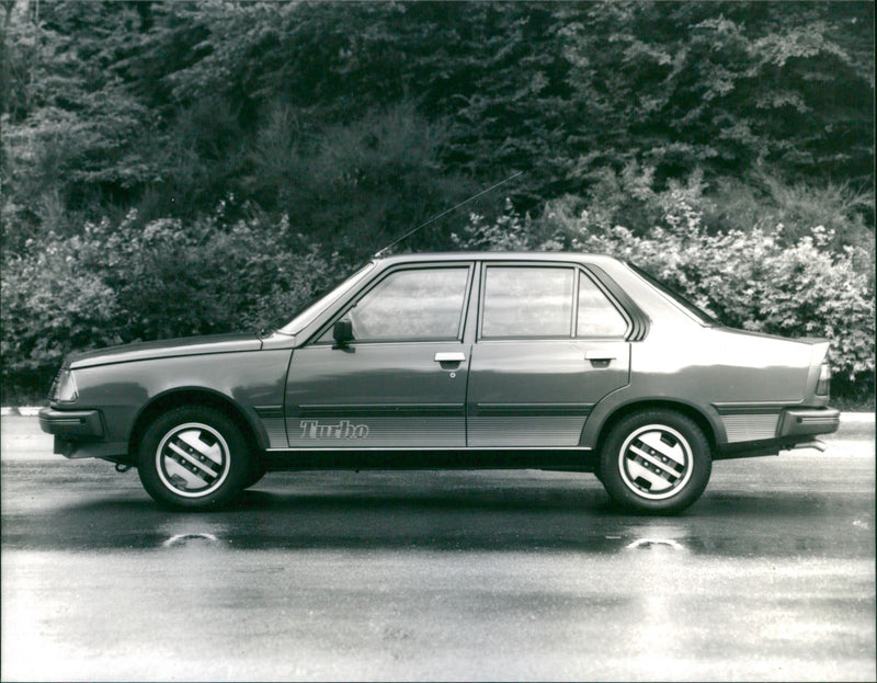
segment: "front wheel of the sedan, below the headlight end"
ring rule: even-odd
[[[227,505],[243,491],[251,473],[243,434],[207,407],[184,406],[159,416],[144,433],[138,455],[147,493],[180,510]]]

